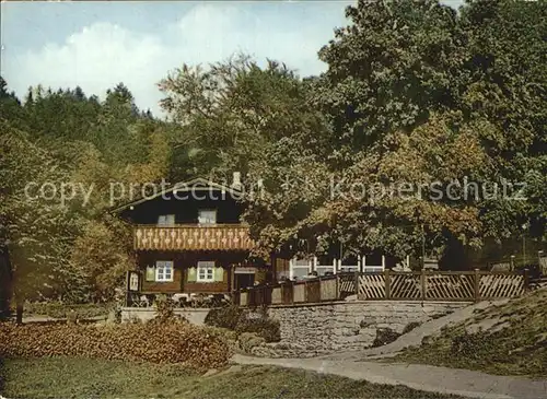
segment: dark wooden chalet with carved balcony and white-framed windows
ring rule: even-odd
[[[237,173],[230,186],[196,178],[114,210],[133,224],[139,293],[226,294],[267,279],[249,258],[241,187]]]

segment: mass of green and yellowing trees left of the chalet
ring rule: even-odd
[[[139,114],[124,84],[104,102],[80,87],[39,85],[20,102],[2,80],[0,104],[0,250],[18,301],[112,298],[133,259],[129,228],[105,213],[113,206],[110,184],[165,177],[168,127]],[[34,199],[24,191],[27,184]],[[38,196],[43,184],[78,190],[62,203]],[[126,191],[121,200],[131,196]]]

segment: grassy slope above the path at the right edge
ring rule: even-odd
[[[547,377],[547,289],[477,312],[391,361]]]

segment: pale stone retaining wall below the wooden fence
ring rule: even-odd
[[[401,333],[410,322],[422,324],[469,303],[362,301],[271,306],[269,317],[280,322],[281,342],[254,348],[264,356],[315,356],[371,347],[376,331]]]

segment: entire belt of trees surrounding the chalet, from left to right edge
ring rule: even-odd
[[[158,84],[168,120],[139,110],[123,83],[103,101],[40,85],[21,101],[1,79],[0,253],[13,274],[2,290],[20,303],[110,298],[135,259],[107,211],[140,195],[113,203],[110,184],[232,172],[246,180],[253,256],[404,258],[424,242],[468,268],[514,254],[523,235],[544,249],[546,4],[360,0],[318,52],[319,77],[245,55],[184,64]],[[451,187],[466,179],[497,184],[498,198]],[[31,181],[91,193],[59,206],[26,198]],[[507,181],[524,183],[526,200],[500,199]]]

